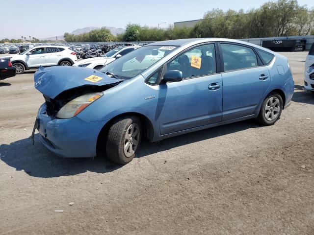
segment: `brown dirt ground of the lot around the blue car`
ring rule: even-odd
[[[124,166],[57,157],[38,134],[32,145],[44,102],[33,72],[1,81],[0,234],[313,235],[307,52],[283,54],[296,86],[275,125],[243,121],[146,141]]]

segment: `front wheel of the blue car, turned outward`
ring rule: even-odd
[[[142,127],[139,118],[131,116],[117,119],[108,131],[107,158],[116,164],[131,162],[139,149],[141,137]]]

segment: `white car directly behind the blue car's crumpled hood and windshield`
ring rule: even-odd
[[[139,48],[139,46],[131,46],[131,47],[116,47],[104,55],[100,57],[93,57],[88,58],[85,60],[80,60],[77,63],[75,63],[73,66],[78,67],[84,67],[84,68],[90,68],[90,69],[100,69],[105,64],[109,64],[110,62],[114,61],[115,59],[120,58],[121,56]]]

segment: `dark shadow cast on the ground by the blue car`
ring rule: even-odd
[[[213,127],[154,143],[144,140],[136,157],[141,158],[181,145],[259,127],[262,126],[248,120]],[[39,134],[35,135],[35,145],[32,145],[30,137],[10,144],[0,145],[0,154],[0,160],[5,164],[14,167],[17,171],[24,170],[29,176],[41,178],[76,175],[86,171],[107,173],[123,167],[123,165],[110,162],[105,157],[95,157],[95,159],[58,157],[40,143]]]

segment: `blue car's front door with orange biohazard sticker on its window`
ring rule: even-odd
[[[159,85],[161,135],[221,121],[222,76],[216,73],[214,44],[187,50],[169,62],[167,69],[182,71],[183,80]]]

